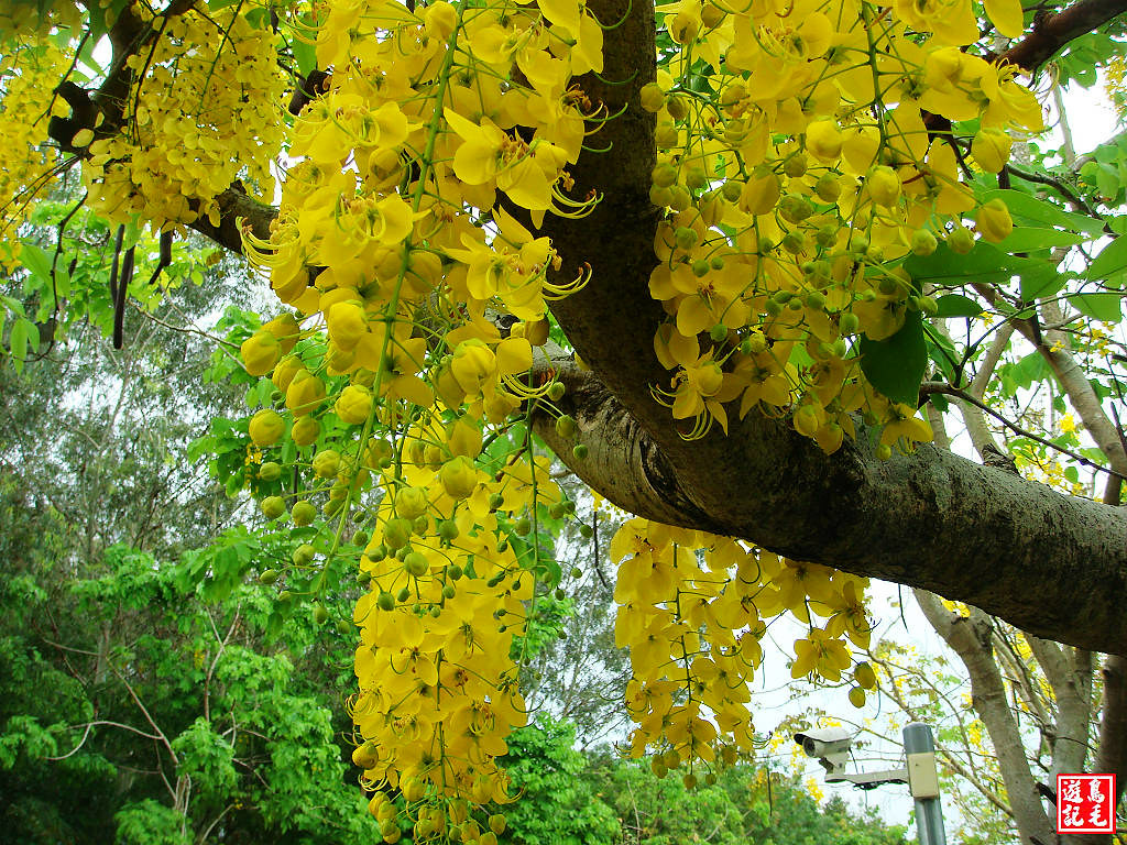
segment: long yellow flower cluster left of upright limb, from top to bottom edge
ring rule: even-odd
[[[524,402],[559,397],[525,374],[545,302],[585,279],[549,282],[559,259],[530,225],[589,206],[561,187],[585,132],[569,81],[602,68],[602,29],[578,2],[347,0],[319,20],[293,36],[316,35],[331,78],[294,123],[272,237],[245,235],[300,315],[242,346],[293,420],[269,410],[251,436],[316,445],[338,540],[349,519],[371,531],[352,712],[384,838],[399,836],[398,789],[416,839],[488,845],[499,817],[486,829],[476,808],[509,800],[495,758],[525,721],[511,651],[544,579],[538,508],[566,509],[527,434],[495,457],[482,443],[508,437]],[[487,309],[521,322],[503,335]]]

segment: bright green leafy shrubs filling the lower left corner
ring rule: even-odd
[[[29,507],[10,474],[0,491],[12,526],[0,793],[15,840],[104,843],[116,829],[148,845],[186,829],[190,842],[220,817],[231,842],[378,838],[338,744],[350,643],[301,614],[268,637],[272,596],[254,581],[215,601],[186,564],[124,546],[69,567],[43,553],[63,521]]]

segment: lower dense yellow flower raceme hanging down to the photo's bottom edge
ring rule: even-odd
[[[473,464],[480,446],[467,419],[415,432],[414,457],[382,472],[385,496],[361,559],[370,589],[355,612],[354,760],[369,789],[400,790],[416,839],[455,828],[463,840],[479,837],[473,807],[513,800],[495,758],[526,721],[513,638],[526,632],[535,576],[496,514],[560,495],[547,459],[489,477]],[[383,791],[371,809],[394,837]]]

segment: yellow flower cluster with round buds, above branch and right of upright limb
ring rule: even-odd
[[[1015,0],[986,8],[1000,32],[1021,32]],[[663,393],[687,437],[727,429],[724,404],[740,399],[740,417],[789,415],[833,452],[853,434],[850,412],[903,415],[855,353],[860,336],[887,339],[934,308],[902,259],[940,240],[969,250],[969,213],[985,240],[1012,229],[1002,201],[978,206],[960,160],[1000,171],[1008,132],[1040,130],[1040,108],[1012,68],[960,50],[978,39],[969,0],[659,11],[678,47],[642,91],[660,150],[650,196],[667,210],[650,278],[671,315],[655,340],[674,371]],[[961,121],[979,122],[969,144],[952,135]],[[931,437],[919,421],[902,435]]]

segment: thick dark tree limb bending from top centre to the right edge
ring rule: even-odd
[[[584,78],[584,90],[607,114],[625,112],[597,124],[589,143],[605,151],[585,152],[574,168],[574,196],[597,189],[603,202],[583,220],[545,221],[543,233],[564,258],[560,277],[573,278],[585,261],[594,270],[584,291],[553,305],[598,374],[566,373],[566,401],[592,457],[571,459],[571,444],[554,443],[541,419],[545,439],[586,481],[640,515],[923,587],[1041,637],[1127,653],[1127,617],[1116,602],[1127,595],[1127,522],[1113,508],[931,446],[881,463],[863,428],[832,456],[756,412],[734,420],[729,437],[717,429],[699,442],[682,439],[650,394],[650,385],[669,377],[653,352],[665,317],[648,292],[659,213],[648,197],[654,117],[638,98],[656,73],[654,8],[594,0],[588,9],[604,23],[623,23],[606,32],[603,73]],[[1059,35],[1056,17],[1077,14],[1065,16],[1041,28]],[[238,217],[263,237],[275,214],[234,188],[221,208],[218,228],[196,229],[230,249],[241,246]]]

